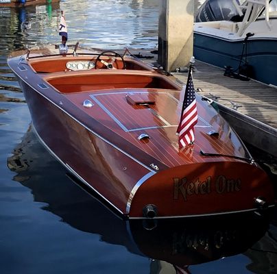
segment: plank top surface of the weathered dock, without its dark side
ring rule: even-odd
[[[174,76],[186,83],[187,73],[174,73]],[[224,69],[200,61],[195,63],[193,80],[195,89],[202,90],[198,92],[200,95],[219,97],[217,102],[228,108],[234,108],[232,103],[236,103],[238,112],[277,129],[277,88],[254,80],[226,77]]]

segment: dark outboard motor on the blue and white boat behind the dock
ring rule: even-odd
[[[239,4],[239,0],[236,1]],[[195,22],[230,21],[232,18],[239,18],[239,14],[231,0],[206,0],[198,10]]]

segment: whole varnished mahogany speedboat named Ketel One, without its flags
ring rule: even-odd
[[[199,95],[195,142],[179,149],[184,87],[176,78],[131,55],[45,53],[8,59],[34,129],[117,212],[141,219],[274,206],[267,174]]]

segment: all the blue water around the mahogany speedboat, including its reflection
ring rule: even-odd
[[[71,41],[157,45],[158,0],[0,8],[0,273],[277,273],[276,221],[122,221],[40,145],[6,58],[58,42],[60,9]]]

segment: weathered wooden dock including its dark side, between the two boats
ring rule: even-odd
[[[173,73],[186,83],[187,73]],[[220,113],[239,136],[277,156],[277,88],[254,80],[224,76],[224,69],[195,62],[194,87],[217,102]]]

